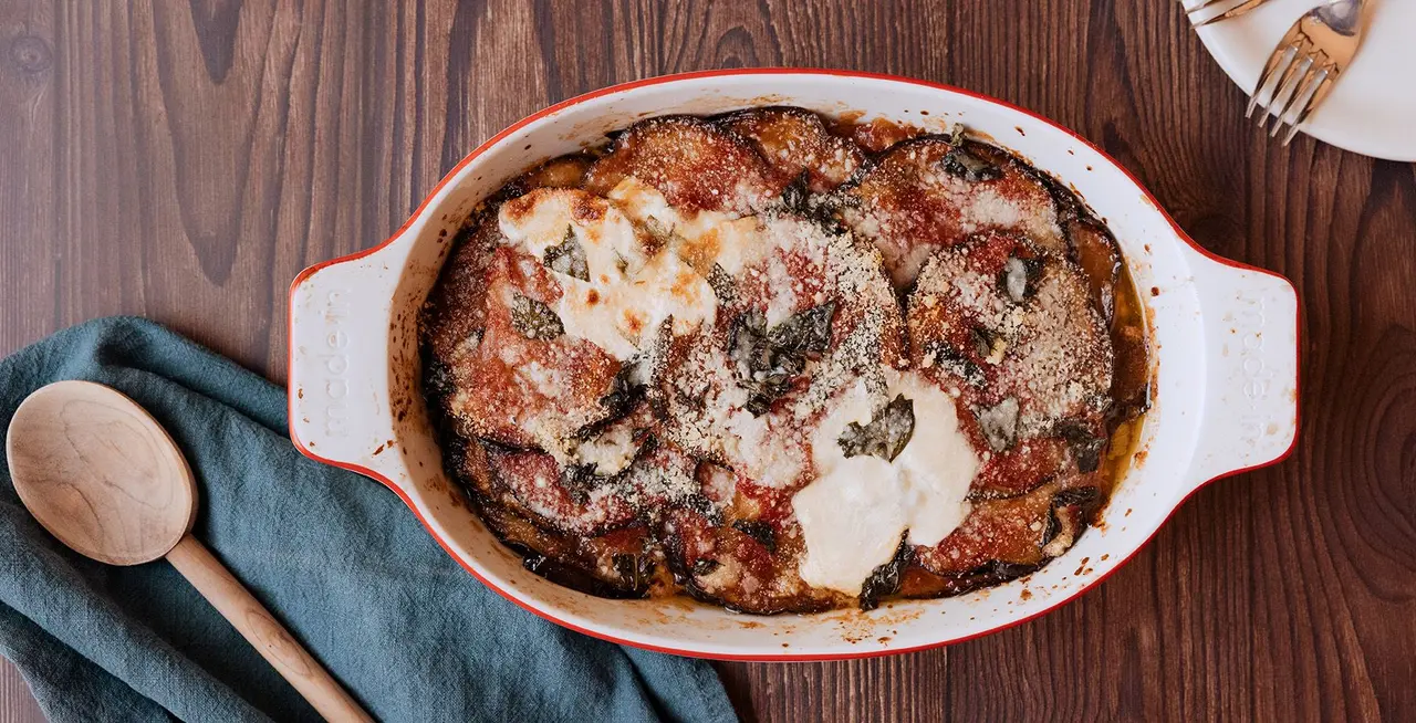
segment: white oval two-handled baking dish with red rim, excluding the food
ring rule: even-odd
[[[1099,526],[1027,579],[871,613],[753,617],[687,600],[602,600],[521,566],[452,491],[421,395],[418,308],[479,199],[534,163],[663,113],[780,103],[983,132],[1070,184],[1120,241],[1148,307],[1155,406]],[[312,266],[290,287],[290,437],[396,492],[472,574],[521,607],[600,638],[681,655],[799,661],[957,642],[1041,615],[1126,562],[1205,482],[1283,458],[1297,433],[1297,294],[1281,276],[1189,241],[1124,168],[1058,125],[936,83],[841,71],[653,78],[551,106],[447,174],[382,245]]]

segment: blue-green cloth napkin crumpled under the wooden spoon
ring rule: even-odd
[[[59,379],[113,386],[167,427],[201,491],[197,538],[375,717],[733,720],[707,664],[483,587],[392,492],[300,456],[283,389],[177,334],[119,317],[28,347],[0,362],[0,422]],[[52,720],[319,720],[170,565],[71,552],[0,477],[0,654]]]

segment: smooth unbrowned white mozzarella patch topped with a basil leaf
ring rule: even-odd
[[[878,405],[905,395],[915,403],[915,432],[895,457],[845,457],[837,439],[850,423],[867,424]],[[910,545],[937,545],[971,509],[969,487],[978,457],[959,429],[953,399],[913,372],[895,375],[885,399],[857,382],[811,439],[817,480],[792,498],[806,539],[801,579],[860,594],[871,573],[891,560],[908,531]]]

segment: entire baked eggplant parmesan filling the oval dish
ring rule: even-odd
[[[871,608],[1037,570],[1148,405],[1116,241],[956,127],[663,116],[489,197],[421,320],[486,525],[605,597]]]

